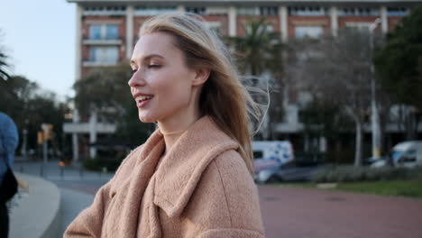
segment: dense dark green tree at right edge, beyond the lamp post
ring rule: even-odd
[[[414,105],[422,110],[422,7],[404,17],[386,44],[376,51],[375,69],[381,84],[396,99],[396,103]]]

